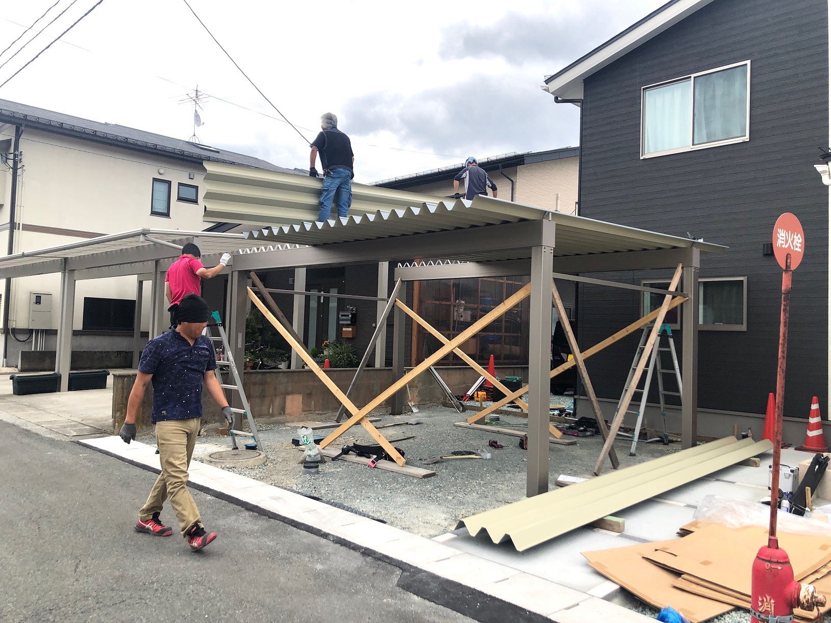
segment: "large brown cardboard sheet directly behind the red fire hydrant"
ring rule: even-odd
[[[750,568],[766,542],[765,527],[710,524],[688,537],[652,543],[655,551],[645,557],[679,575],[688,573],[750,596]],[[798,580],[831,562],[831,537],[782,533],[779,544],[788,552]]]

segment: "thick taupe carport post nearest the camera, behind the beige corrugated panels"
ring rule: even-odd
[[[525,495],[548,491],[548,423],[551,373],[551,273],[553,248],[531,249],[528,362],[528,465]]]

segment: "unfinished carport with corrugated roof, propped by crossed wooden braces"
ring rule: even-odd
[[[212,196],[216,194],[214,191]],[[380,210],[327,223],[270,226],[248,232],[246,237],[246,246],[256,245],[257,248],[248,249],[234,258],[233,292],[229,298],[232,305],[240,307],[240,311],[232,317],[243,315],[242,309],[248,296],[246,273],[250,271],[304,270],[308,267],[398,261],[401,263],[396,268],[395,277],[404,282],[530,276],[529,335],[532,339],[529,345],[526,484],[529,496],[548,490],[549,339],[553,277],[671,294],[676,297],[676,305],[677,298],[683,297],[686,301],[681,306],[682,444],[685,448],[696,444],[698,270],[701,253],[720,253],[724,247],[484,196],[478,196],[473,201],[458,199],[455,202],[440,201]],[[269,245],[277,244],[298,247],[282,250],[269,248]],[[434,259],[408,263],[412,258]],[[677,269],[683,276],[683,292],[584,276],[591,272],[655,269]],[[296,287],[298,281],[295,281]],[[403,289],[398,298],[404,302]],[[406,312],[402,307],[396,307],[393,328],[393,376],[399,381],[405,375]],[[243,327],[235,326],[234,331],[237,331],[237,344],[240,344]],[[536,339],[536,336],[543,339]],[[375,346],[376,350],[382,349],[381,340]],[[438,352],[446,351],[450,346],[453,345],[445,344]],[[241,361],[241,351],[234,355],[237,361]],[[390,390],[394,387],[396,385]],[[378,399],[383,395],[379,395]],[[391,398],[391,414],[400,415],[404,404],[401,391],[388,397]],[[378,402],[378,399],[373,402]],[[353,415],[347,424],[355,424],[360,419]],[[344,427],[337,429],[327,438],[327,443],[345,430]]]

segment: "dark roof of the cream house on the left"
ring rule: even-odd
[[[125,125],[101,123],[81,117],[64,115],[54,110],[46,110],[19,104],[16,101],[0,100],[0,124],[25,125],[53,134],[71,136],[81,140],[121,147],[127,150],[141,151],[145,154],[165,155],[168,158],[202,163],[222,162],[241,164],[255,169],[268,169],[283,173],[299,174],[297,169],[286,169],[253,156],[237,154],[234,151],[220,150],[210,145],[199,145],[189,140],[175,139],[171,136],[135,130]]]

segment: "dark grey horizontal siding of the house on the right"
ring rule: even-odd
[[[807,417],[812,395],[826,404],[829,195],[813,164],[829,142],[828,35],[826,0],[715,0],[584,83],[581,215],[724,244],[700,276],[747,277],[747,331],[699,332],[701,408],[764,413],[774,390],[781,270],[762,245],[783,212],[802,221],[807,248],[794,272],[785,415]],[[748,59],[750,141],[640,158],[642,86]],[[583,348],[640,316],[637,293],[581,292]],[[588,361],[599,395],[619,397],[637,337]]]

